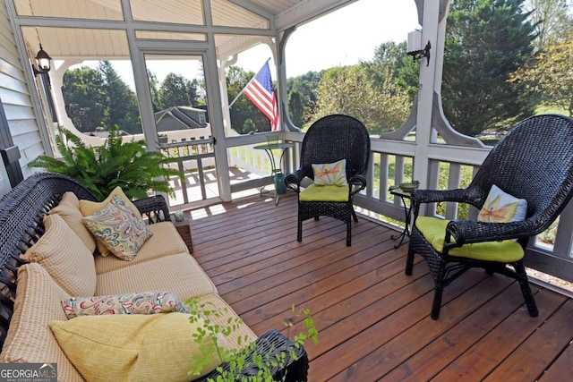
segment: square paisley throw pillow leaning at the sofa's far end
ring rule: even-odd
[[[128,261],[135,258],[137,250],[153,234],[141,216],[117,195],[81,221],[117,258]]]

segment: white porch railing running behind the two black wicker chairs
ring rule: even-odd
[[[301,136],[287,134],[287,139],[300,143]],[[471,182],[475,173],[487,157],[490,149],[463,148],[448,145],[431,145],[427,155],[415,156],[414,142],[397,140],[371,140],[371,161],[369,187],[358,195],[355,205],[363,212],[386,223],[404,221],[402,200],[394,198],[388,191],[392,184],[412,180],[414,166],[427,165],[428,188],[438,189],[440,179],[445,179],[444,189],[463,188]],[[297,167],[296,158],[293,166]],[[426,164],[419,161],[425,160]],[[441,182],[443,183],[443,182]],[[478,210],[460,206],[458,203],[430,205],[425,215],[443,216],[448,219],[476,218]],[[573,203],[565,208],[558,220],[543,234],[528,244],[526,267],[537,269],[548,275],[573,281]]]

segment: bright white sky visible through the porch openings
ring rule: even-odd
[[[286,44],[286,78],[371,61],[375,48],[381,43],[406,41],[408,32],[420,28],[414,0],[359,0],[295,30]],[[258,72],[269,58],[272,64],[269,47],[258,46],[239,54],[236,65]],[[84,62],[82,65],[95,67],[96,64]],[[131,63],[115,63],[114,67],[134,89]],[[148,63],[159,82],[169,72],[194,78],[199,73],[198,67],[193,65],[193,73],[190,73],[189,64]],[[276,80],[272,67],[271,74]]]

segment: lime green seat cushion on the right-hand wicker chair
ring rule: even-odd
[[[444,247],[446,225],[448,223],[449,220],[431,216],[418,216],[415,220],[415,226],[423,234],[424,239],[432,244],[434,250],[440,253]],[[501,263],[514,262],[524,257],[521,245],[512,240],[465,244],[461,247],[452,248],[448,253],[449,256],[457,256],[459,258],[499,261]]]

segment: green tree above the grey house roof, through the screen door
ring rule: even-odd
[[[197,80],[189,81],[175,73],[167,74],[159,87],[159,106],[161,109],[167,109],[173,106],[196,105],[199,98],[198,86]]]

